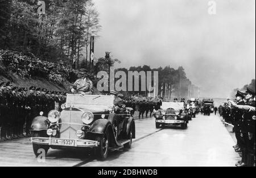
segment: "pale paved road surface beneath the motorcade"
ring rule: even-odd
[[[22,138],[0,142],[0,166],[234,166],[240,159],[232,148],[232,136],[216,115],[199,114],[185,130],[155,129],[154,118],[135,122],[132,148],[112,151],[104,162],[89,152],[51,149],[45,162],[39,162],[29,138]]]

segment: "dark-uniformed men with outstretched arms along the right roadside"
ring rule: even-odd
[[[237,91],[236,103],[232,103],[230,111],[228,105],[222,110],[224,119],[229,115],[228,121],[234,125],[237,144],[233,147],[242,157],[236,166],[255,166],[255,91],[250,88],[245,93]]]

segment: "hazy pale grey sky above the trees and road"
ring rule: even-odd
[[[115,67],[182,65],[201,96],[228,97],[255,78],[255,0],[94,0],[102,30],[95,56]]]

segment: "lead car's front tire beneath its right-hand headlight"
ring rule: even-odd
[[[102,136],[97,136],[96,140],[100,142],[98,147],[96,148],[96,156],[98,160],[105,160],[108,158],[109,154],[109,144],[110,144],[110,136],[109,131],[106,130],[106,133]]]

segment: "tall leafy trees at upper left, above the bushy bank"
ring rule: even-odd
[[[53,62],[86,63],[90,36],[97,39],[101,29],[94,3],[44,0],[45,14],[39,14],[42,5],[38,2],[0,0],[0,48],[33,53]]]

